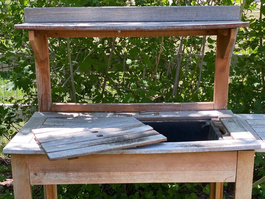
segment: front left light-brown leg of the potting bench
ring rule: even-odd
[[[28,156],[24,154],[11,154],[11,165],[16,199],[31,199],[32,190],[29,182]]]

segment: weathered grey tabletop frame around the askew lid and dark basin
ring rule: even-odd
[[[231,111],[159,111],[159,115],[140,115],[133,112],[133,117],[139,121],[147,120],[189,120],[189,119],[212,119],[224,118],[224,123],[229,123],[229,118],[234,118]],[[63,118],[76,118],[76,119],[95,119],[95,118],[126,118],[126,116],[117,116],[112,112],[109,113],[53,113],[53,112],[36,112],[19,131],[16,136],[6,145],[3,149],[4,153],[10,154],[45,154],[42,147],[36,141],[32,129],[40,129],[40,127],[47,121]],[[227,118],[228,120],[226,120]],[[237,116],[238,118],[238,116]],[[241,120],[240,120],[241,121]],[[243,120],[242,120],[243,121]],[[45,123],[46,124],[46,123]],[[233,126],[228,127],[229,131],[234,131]],[[245,125],[244,125],[245,126]],[[47,126],[46,126],[47,127]],[[63,128],[63,127],[62,127]],[[81,128],[81,127],[80,127]],[[142,148],[129,148],[117,149],[114,151],[104,152],[105,154],[118,154],[118,153],[180,153],[180,152],[206,152],[206,151],[233,151],[233,150],[265,150],[261,148],[261,142],[250,134],[253,134],[253,129],[240,130],[241,132],[232,132],[235,139],[213,140],[213,141],[197,141],[197,142],[168,142],[168,143],[155,143]],[[249,132],[248,132],[249,131]],[[238,136],[237,136],[238,135]],[[244,137],[245,136],[245,137]],[[264,142],[265,143],[265,142]]]

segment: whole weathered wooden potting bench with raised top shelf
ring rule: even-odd
[[[235,182],[234,198],[251,198],[254,149],[261,150],[263,142],[256,140],[259,136],[242,115],[235,116],[226,110],[234,28],[249,25],[239,21],[239,7],[71,7],[24,11],[25,23],[15,28],[29,30],[35,53],[40,112],[29,119],[3,150],[11,154],[15,198],[32,198],[31,185],[37,184],[44,185],[45,198],[57,198],[56,184],[144,182],[210,182],[212,199],[222,198],[223,182]],[[193,35],[217,35],[213,102],[52,103],[48,37]],[[115,115],[114,111],[130,113],[132,119]],[[159,114],[142,115],[139,111]],[[139,121],[202,119],[212,119],[226,134],[219,140],[168,140],[123,149],[128,143],[140,146],[153,142],[152,136],[139,136],[130,142],[122,134],[145,126]],[[101,126],[118,120],[132,126],[127,129],[122,125]],[[110,138],[108,133],[117,131],[120,131],[117,136],[123,136],[120,138],[124,140],[102,145],[92,143],[100,144],[100,138]],[[69,142],[72,139],[77,141]],[[158,139],[161,140],[164,138]],[[103,152],[106,150],[110,151]]]

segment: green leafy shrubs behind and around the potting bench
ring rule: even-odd
[[[24,21],[24,7],[169,5],[241,6],[242,20],[249,21],[250,27],[238,29],[234,53],[242,55],[234,61],[236,65],[231,64],[228,109],[233,113],[264,114],[264,0],[260,5],[252,0],[11,0],[0,2],[0,62],[15,63],[6,80],[6,89],[19,88],[24,98],[1,99],[3,103],[14,105],[0,106],[0,136],[9,140],[23,125],[16,114],[21,104],[21,112],[27,117],[37,106],[34,54],[28,33],[14,29],[14,24]],[[251,17],[252,11],[258,11],[259,15]],[[216,37],[212,36],[49,38],[52,100],[82,103],[212,101],[215,42]],[[71,70],[74,79],[70,77]],[[257,175],[261,176],[264,175],[263,157],[256,154],[255,159]],[[197,198],[198,186],[201,184],[60,185],[58,194],[59,198]],[[253,193],[264,197],[264,186],[254,188]],[[208,193],[208,185],[203,191]],[[8,194],[3,197],[9,197]],[[42,197],[42,191],[34,194]]]

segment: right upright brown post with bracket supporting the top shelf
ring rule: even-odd
[[[235,29],[218,29],[214,75],[214,110],[227,109],[230,51],[235,40]]]

